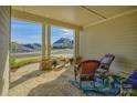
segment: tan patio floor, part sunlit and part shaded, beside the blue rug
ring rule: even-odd
[[[40,64],[29,64],[10,73],[9,96],[84,96],[68,80],[74,78],[73,66],[40,71]]]

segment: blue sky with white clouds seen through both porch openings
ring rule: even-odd
[[[21,20],[11,20],[11,41],[18,43],[41,43],[42,27]],[[60,38],[73,39],[73,30],[65,28],[51,27],[51,43]]]

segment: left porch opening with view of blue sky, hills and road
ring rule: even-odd
[[[41,24],[12,19],[11,62],[41,58]]]

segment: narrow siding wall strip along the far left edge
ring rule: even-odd
[[[0,7],[0,95],[9,89],[10,7]]]

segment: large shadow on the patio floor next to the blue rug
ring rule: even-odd
[[[66,69],[59,78],[33,87],[29,96],[84,96],[82,91],[73,86],[68,80],[73,79],[73,69]]]

